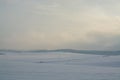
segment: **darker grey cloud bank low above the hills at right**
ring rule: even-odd
[[[87,36],[88,41],[79,39],[76,42],[69,43],[66,46],[73,49],[87,50],[119,50],[120,35],[109,35],[95,32]]]

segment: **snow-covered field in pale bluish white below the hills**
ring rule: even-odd
[[[120,80],[120,56],[7,53],[0,55],[0,80]]]

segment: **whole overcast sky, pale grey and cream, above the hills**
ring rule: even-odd
[[[120,50],[120,0],[0,0],[0,49]]]

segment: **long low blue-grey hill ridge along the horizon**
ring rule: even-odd
[[[29,50],[29,51],[17,51],[17,50],[0,50],[2,53],[48,53],[48,52],[68,52],[68,53],[80,53],[80,54],[94,54],[94,55],[120,55],[120,51],[98,51],[98,50],[75,50],[75,49],[56,49],[56,50]]]

